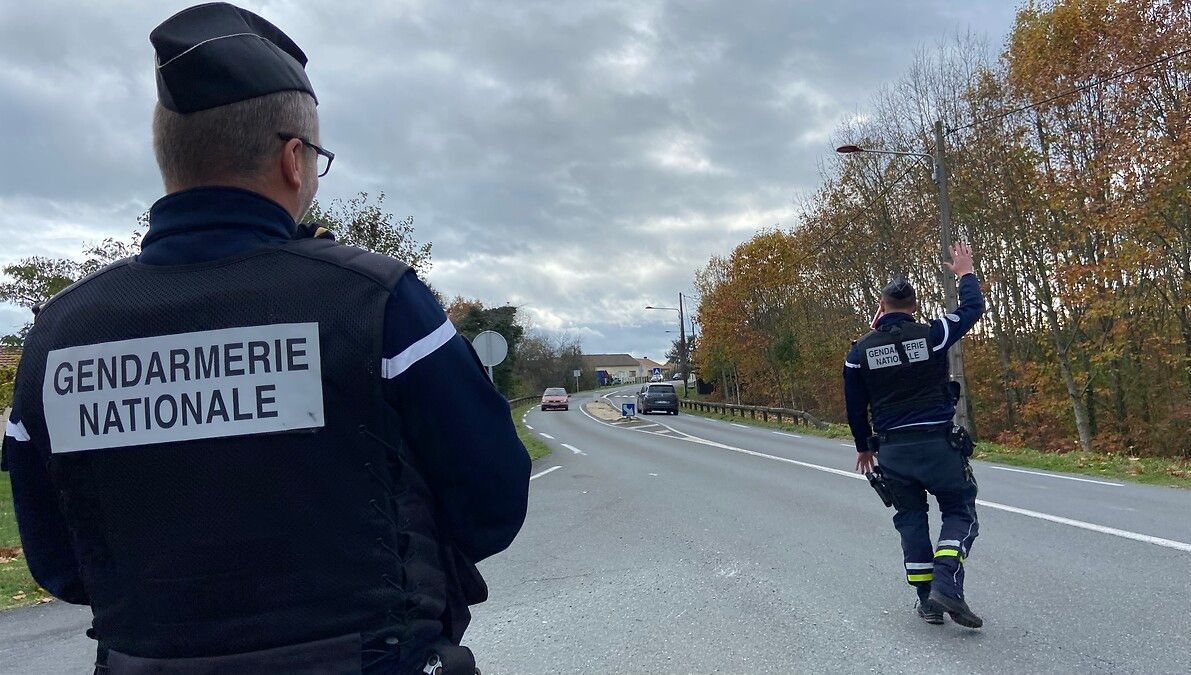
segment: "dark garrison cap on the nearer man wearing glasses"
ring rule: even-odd
[[[275,92],[311,96],[306,55],[261,17],[227,2],[195,5],[149,33],[157,52],[157,98],[179,113]],[[314,99],[318,102],[318,99]]]

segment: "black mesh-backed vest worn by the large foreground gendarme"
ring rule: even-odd
[[[457,642],[468,615],[466,602],[448,607],[455,554],[381,394],[382,318],[405,270],[301,239],[191,265],[120,261],[40,311],[24,419],[54,451],[101,643],[176,658],[355,635],[393,656],[441,635]],[[295,325],[317,344],[286,337]],[[227,332],[245,326],[276,339]],[[107,345],[139,338],[182,346],[155,358]],[[55,351],[77,345],[93,346]],[[91,358],[94,345],[111,358]],[[311,382],[316,367],[322,411],[295,420],[286,401],[318,393],[286,382]],[[75,412],[77,429],[61,423]],[[52,435],[46,413],[62,425]],[[201,437],[245,429],[264,431]],[[132,445],[63,451],[136,433]],[[188,439],[143,442],[154,433]]]

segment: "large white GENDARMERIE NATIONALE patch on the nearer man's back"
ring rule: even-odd
[[[322,427],[318,324],[56,349],[42,400],[52,452]]]

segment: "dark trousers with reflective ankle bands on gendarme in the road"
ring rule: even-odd
[[[891,432],[878,455],[896,501],[893,526],[902,535],[906,581],[919,598],[930,589],[964,598],[964,561],[980,532],[977,485],[967,460],[947,442],[946,431]],[[931,545],[927,493],[935,495],[943,526]]]

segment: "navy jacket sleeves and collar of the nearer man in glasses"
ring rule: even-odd
[[[158,200],[137,260],[200,263],[292,239],[297,226],[275,202],[236,188],[197,188]],[[272,283],[300,283],[273,280]],[[326,289],[329,302],[335,289]],[[513,540],[525,520],[529,454],[509,404],[488,381],[472,344],[455,332],[430,289],[412,273],[385,311],[385,398],[398,411],[406,445],[438,500],[455,545],[473,562]],[[25,560],[55,596],[88,604],[67,523],[50,482],[49,448],[25,433],[13,401],[5,442]]]

